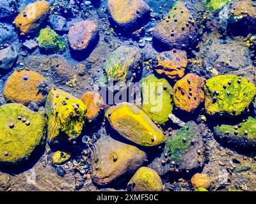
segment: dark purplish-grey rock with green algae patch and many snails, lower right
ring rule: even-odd
[[[209,136],[204,124],[189,121],[168,138],[163,153],[156,157],[149,168],[157,171],[164,180],[173,173],[194,171],[204,166],[204,142],[202,137]]]

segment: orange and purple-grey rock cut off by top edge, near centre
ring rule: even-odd
[[[143,0],[108,0],[108,12],[122,29],[135,29],[143,20],[149,19],[150,7]]]

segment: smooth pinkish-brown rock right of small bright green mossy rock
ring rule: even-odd
[[[69,45],[73,50],[85,51],[99,41],[98,25],[90,20],[77,22],[68,32]]]

